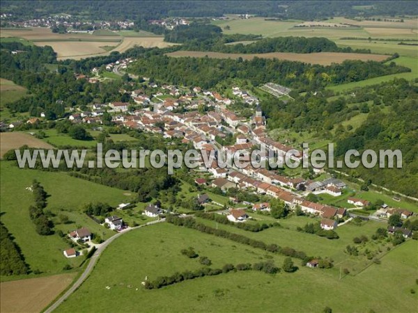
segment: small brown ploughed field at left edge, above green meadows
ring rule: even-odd
[[[35,138],[29,134],[23,133],[0,133],[0,157],[3,157],[3,154],[12,149],[17,149],[22,147],[22,145],[28,145],[29,147],[37,147],[44,149],[51,149],[52,145],[49,145],[38,138]]]

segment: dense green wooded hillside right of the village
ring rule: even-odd
[[[415,83],[396,79],[375,86],[357,88],[355,95],[327,99],[325,95],[297,97],[281,102],[274,97],[262,102],[268,117],[268,128],[308,131],[318,138],[336,143],[336,157],[347,150],[401,150],[403,168],[356,168],[347,170],[379,186],[418,196],[418,87]],[[368,113],[359,127],[343,127],[356,115]]]

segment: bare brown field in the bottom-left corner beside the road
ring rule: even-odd
[[[41,312],[72,282],[74,274],[2,282],[1,312]]]

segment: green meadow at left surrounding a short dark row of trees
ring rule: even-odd
[[[116,206],[121,202],[129,202],[130,196],[125,191],[94,184],[82,179],[70,177],[62,172],[47,172],[40,170],[24,170],[17,168],[10,161],[1,161],[1,221],[22,249],[26,262],[31,270],[49,273],[60,273],[65,264],[77,266],[82,258],[67,259],[63,250],[68,247],[57,234],[40,236],[35,225],[29,218],[29,205],[33,204],[30,191],[33,179],[37,179],[50,195],[47,199],[47,210],[52,214],[63,213],[73,223],[56,225],[56,229],[67,232],[79,226],[86,226],[91,232],[102,232],[109,237],[110,230],[93,222],[82,213],[82,206],[88,202],[101,201]],[[54,218],[58,221],[58,218]]]

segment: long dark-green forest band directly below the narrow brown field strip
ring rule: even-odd
[[[161,55],[139,58],[132,66],[134,74],[175,85],[213,88],[225,79],[247,79],[254,86],[274,82],[300,91],[318,90],[331,84],[361,81],[399,72],[410,72],[410,69],[395,63],[383,65],[376,61],[344,61],[341,64],[322,66],[265,58],[249,61],[238,58],[235,61],[170,58]]]

